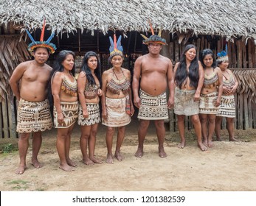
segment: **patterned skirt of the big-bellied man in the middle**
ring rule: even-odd
[[[141,99],[138,113],[139,119],[160,120],[168,118],[166,92],[159,96],[152,96],[140,89],[139,97]]]

